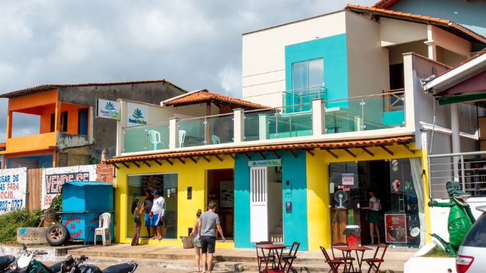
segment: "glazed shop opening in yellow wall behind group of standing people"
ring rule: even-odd
[[[127,221],[126,221],[126,238],[130,238],[133,234],[133,215],[131,213],[131,206],[133,199],[136,197],[140,200],[142,206],[145,195],[145,190],[158,190],[163,193],[165,199],[165,218],[162,226],[162,236],[164,238],[177,238],[177,174],[153,174],[153,175],[129,175],[128,176],[128,194],[127,194]],[[140,237],[146,237],[146,229],[144,228],[144,217],[142,215],[142,229],[140,229]],[[152,231],[153,232],[153,231]]]

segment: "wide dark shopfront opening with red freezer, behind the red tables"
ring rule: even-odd
[[[392,159],[342,162],[329,164],[331,236],[333,243],[346,242],[344,227],[361,227],[361,243],[371,243],[369,193],[380,200],[378,231],[374,242],[391,243],[403,247],[419,247],[424,223],[419,220],[419,170],[412,168],[412,160]],[[415,177],[415,179],[414,179]],[[416,181],[417,179],[417,181]],[[422,208],[423,209],[423,208]]]

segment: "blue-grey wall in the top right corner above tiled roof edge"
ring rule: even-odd
[[[401,12],[449,19],[480,35],[486,35],[486,2],[458,0],[407,0],[389,8]]]

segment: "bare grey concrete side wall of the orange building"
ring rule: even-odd
[[[124,98],[146,103],[160,103],[162,100],[178,96],[184,92],[165,82],[148,82],[128,85],[107,85],[90,87],[68,87],[59,89],[59,100],[65,103],[88,105],[91,107],[90,122],[94,144],[91,146],[92,157],[101,158],[103,149],[107,157],[115,156],[117,123],[106,118],[94,118],[96,99],[117,100]]]

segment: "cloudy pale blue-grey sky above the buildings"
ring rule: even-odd
[[[0,92],[165,78],[241,96],[241,34],[377,0],[1,0]],[[5,141],[6,99],[0,99]],[[14,136],[38,132],[14,116]]]

